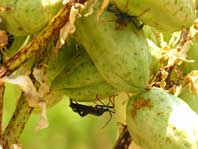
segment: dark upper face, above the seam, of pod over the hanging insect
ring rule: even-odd
[[[78,88],[92,85],[103,80],[85,51],[81,51],[53,81],[53,90]]]

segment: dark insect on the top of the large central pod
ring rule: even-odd
[[[126,27],[129,23],[132,23],[133,25],[135,25],[136,28],[141,29],[144,24],[140,23],[139,20],[137,19],[137,16],[129,16],[126,13],[121,12],[117,6],[115,4],[109,4],[107,10],[109,12],[112,12],[115,14],[115,16],[117,17],[116,19],[116,23],[118,23],[119,25],[115,28],[116,30],[121,30],[124,27]]]

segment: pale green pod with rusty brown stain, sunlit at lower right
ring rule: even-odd
[[[152,88],[129,99],[129,132],[142,149],[197,149],[198,116],[180,98]]]

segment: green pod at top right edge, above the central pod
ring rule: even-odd
[[[162,32],[190,27],[196,17],[194,0],[112,0],[121,11],[137,16]]]

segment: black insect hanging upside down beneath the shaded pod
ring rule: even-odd
[[[70,98],[69,106],[72,108],[74,112],[78,113],[81,117],[87,116],[88,114],[101,116],[103,115],[103,113],[108,112],[110,114],[110,119],[109,119],[110,121],[112,118],[112,114],[115,113],[114,103],[113,105],[102,104],[102,105],[90,106],[90,105],[79,104],[78,102]],[[109,121],[106,124],[108,124]]]

